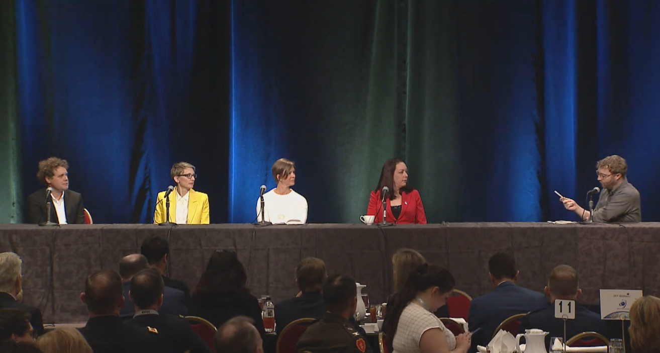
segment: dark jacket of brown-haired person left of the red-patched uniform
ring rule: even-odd
[[[293,321],[304,317],[321,319],[323,315],[325,315],[323,294],[303,292],[299,297],[289,298],[275,305],[275,331],[279,334]]]

